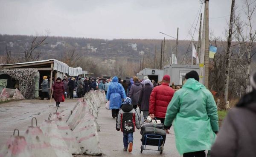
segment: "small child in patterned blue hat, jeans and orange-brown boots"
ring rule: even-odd
[[[116,130],[119,131],[121,129],[123,132],[124,151],[127,151],[128,145],[128,151],[132,151],[135,127],[140,129],[139,115],[131,105],[131,98],[127,97],[124,99],[116,119]]]

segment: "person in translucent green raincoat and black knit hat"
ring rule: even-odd
[[[205,157],[218,132],[218,113],[212,93],[199,83],[196,71],[186,74],[182,89],[175,92],[169,103],[164,126],[172,126],[176,147],[183,157]]]

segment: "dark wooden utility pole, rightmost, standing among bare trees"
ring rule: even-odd
[[[231,4],[231,12],[230,12],[230,28],[228,31],[228,39],[227,39],[227,52],[226,52],[226,67],[225,67],[225,85],[224,85],[224,103],[225,107],[228,104],[228,86],[229,86],[229,74],[230,74],[230,47],[231,47],[231,41],[232,41],[232,30],[233,30],[233,17],[234,17],[234,6],[235,6],[235,0],[232,0]]]

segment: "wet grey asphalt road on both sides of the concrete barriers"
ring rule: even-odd
[[[70,110],[74,107],[78,99],[69,100],[61,103],[58,111],[62,111],[65,118],[69,115]],[[20,130],[20,135],[31,126],[31,118],[36,117],[38,126],[47,119],[49,113],[55,112],[55,102],[49,107],[49,100],[22,100],[11,101],[0,104],[0,146],[13,134],[14,129]],[[101,131],[99,132],[100,148],[102,156],[105,157],[180,157],[175,147],[175,135],[173,129],[166,136],[166,143],[163,154],[159,151],[143,150],[140,153],[141,135],[140,130],[134,132],[134,147],[131,153],[123,151],[122,132],[115,129],[116,120],[111,117],[111,110],[105,109],[105,104],[99,109],[99,117],[96,119],[99,123]],[[157,149],[157,147],[148,146],[147,149]],[[84,155],[75,155],[76,157],[84,157]]]

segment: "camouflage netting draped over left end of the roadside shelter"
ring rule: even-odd
[[[20,93],[26,99],[34,98],[35,77],[39,78],[39,72],[35,69],[11,69],[0,70],[0,75],[7,74],[20,83]]]

